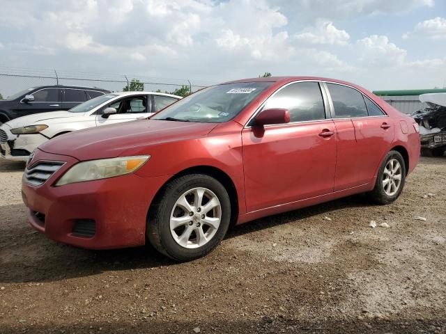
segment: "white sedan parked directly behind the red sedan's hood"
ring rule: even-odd
[[[38,145],[68,132],[148,118],[180,96],[153,92],[109,93],[68,111],[15,118],[0,127],[0,157],[26,161]]]

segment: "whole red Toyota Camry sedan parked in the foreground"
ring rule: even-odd
[[[231,81],[150,120],[73,132],[33,152],[29,223],[84,248],[209,253],[245,223],[354,193],[396,200],[417,165],[417,124],[369,91],[316,77]]]

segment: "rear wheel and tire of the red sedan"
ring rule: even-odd
[[[391,162],[392,161],[392,162]],[[395,162],[397,161],[397,162]],[[399,165],[398,165],[398,164]],[[394,166],[394,168],[392,168]],[[399,168],[397,169],[397,166]],[[391,170],[396,170],[394,174]],[[400,180],[398,179],[400,177]],[[385,182],[387,180],[387,182]],[[403,156],[397,151],[390,151],[385,156],[383,164],[378,170],[374,190],[369,193],[369,198],[378,204],[390,204],[397,200],[401,191],[403,191],[404,182],[406,181],[406,164]],[[392,186],[394,183],[394,187]]]

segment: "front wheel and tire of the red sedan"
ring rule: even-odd
[[[201,205],[194,205],[200,193]],[[216,206],[205,212],[206,205]],[[215,223],[218,218],[219,225]],[[185,175],[169,182],[157,196],[148,214],[146,237],[160,253],[176,261],[190,261],[203,257],[220,244],[230,220],[231,202],[224,186],[209,175]],[[176,221],[182,223],[172,229]],[[209,221],[213,227],[208,225]]]

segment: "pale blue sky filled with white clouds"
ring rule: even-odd
[[[0,66],[443,87],[446,0],[0,0]]]

